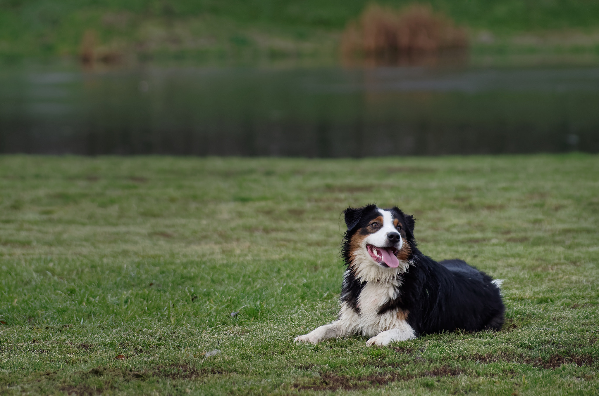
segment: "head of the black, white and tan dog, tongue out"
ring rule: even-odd
[[[347,231],[343,258],[351,266],[398,268],[412,258],[414,217],[400,208],[380,209],[376,205],[343,211]]]

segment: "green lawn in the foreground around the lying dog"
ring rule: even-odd
[[[579,154],[0,157],[0,394],[597,394],[598,174]],[[506,279],[503,330],[294,344],[335,318],[340,212],[369,202]]]

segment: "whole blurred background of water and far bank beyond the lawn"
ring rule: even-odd
[[[599,2],[0,0],[0,153],[599,151]]]

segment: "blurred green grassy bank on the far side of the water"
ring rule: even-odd
[[[402,7],[413,1],[382,1]],[[325,56],[367,0],[1,0],[0,55],[75,56],[85,31],[99,51],[124,57]],[[432,7],[470,28],[474,45],[574,48],[599,45],[599,5],[586,0],[436,0]],[[533,40],[529,38],[533,33]],[[513,39],[515,38],[515,39]],[[530,50],[529,48],[529,50]]]

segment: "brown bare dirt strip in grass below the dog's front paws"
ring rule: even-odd
[[[344,389],[366,389],[373,386],[385,385],[389,382],[407,381],[417,377],[446,377],[457,376],[464,371],[461,368],[453,368],[442,365],[429,371],[423,371],[419,374],[410,373],[375,373],[368,376],[347,376],[337,373],[320,373],[320,378],[313,383],[300,384],[295,383],[294,388],[298,390],[310,389],[311,391],[337,391]]]

